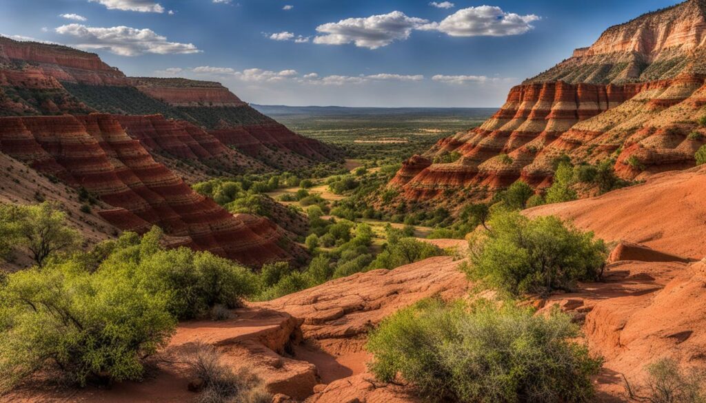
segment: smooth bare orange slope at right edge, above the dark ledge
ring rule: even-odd
[[[642,243],[666,253],[706,256],[706,167],[665,172],[645,184],[597,198],[526,210],[530,217],[557,215],[606,241]]]

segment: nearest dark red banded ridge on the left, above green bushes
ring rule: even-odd
[[[140,231],[145,223],[155,224],[169,235],[188,237],[191,248],[246,265],[292,257],[277,246],[281,229],[233,217],[192,191],[155,162],[114,116],[2,118],[0,150],[119,207],[101,213],[116,227]]]

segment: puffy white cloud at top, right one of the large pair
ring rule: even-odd
[[[421,30],[436,30],[453,37],[521,35],[534,28],[538,16],[520,16],[505,13],[496,6],[463,8],[446,17],[441,23],[426,24]]]

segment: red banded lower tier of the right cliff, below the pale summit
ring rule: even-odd
[[[442,140],[429,153],[443,155],[455,150],[462,155],[460,160],[431,164],[419,172],[403,166],[391,184],[405,185],[406,196],[421,200],[436,197],[446,188],[488,186],[492,190],[517,179],[544,187],[551,184],[552,161],[559,155],[597,161],[621,146],[625,150],[618,157],[616,171],[623,177],[640,174],[635,172],[635,164],[628,164],[633,155],[645,165],[641,169],[649,172],[693,166],[693,153],[700,144],[684,143],[688,132],[675,134],[663,128],[638,136],[633,135],[635,128],[611,129],[637,116],[638,109],[644,116],[669,124],[676,123],[676,112],[672,111],[677,108],[687,108],[687,113],[694,116],[703,98],[697,90],[703,82],[699,76],[681,76],[626,85],[570,85],[561,81],[518,85],[510,91],[505,105],[482,126]],[[625,107],[609,115],[608,111],[643,92],[649,96],[634,101],[634,110]],[[647,118],[639,123],[649,126]]]

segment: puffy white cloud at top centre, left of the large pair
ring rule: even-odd
[[[412,30],[429,21],[408,17],[402,11],[367,18],[348,18],[337,23],[326,23],[316,28],[319,35],[316,44],[349,44],[357,47],[377,49],[395,40],[406,40]]]

